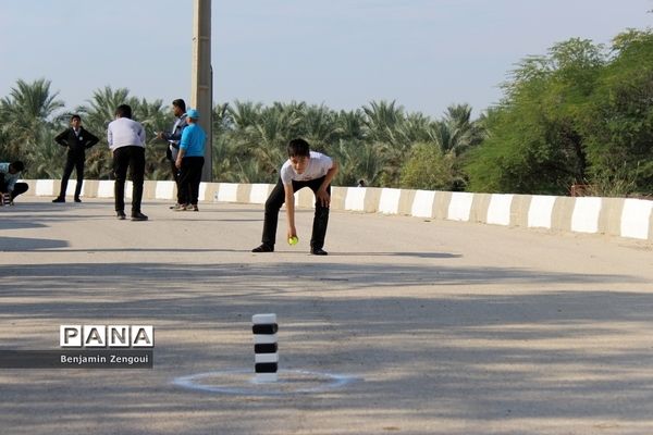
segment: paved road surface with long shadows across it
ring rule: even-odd
[[[301,210],[298,246],[254,254],[260,206],[167,206],[0,209],[0,349],[156,328],[153,370],[1,370],[0,433],[653,433],[651,245],[333,212],[320,258]],[[272,387],[243,374],[267,312]]]

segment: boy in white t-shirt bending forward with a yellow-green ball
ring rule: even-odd
[[[262,245],[252,252],[273,252],[276,240],[276,223],[279,210],[285,202],[287,214],[287,238],[297,236],[295,228],[295,192],[310,187],[316,194],[316,214],[313,217],[310,253],[326,256],[324,236],[329,223],[329,204],[331,202],[331,181],[337,174],[337,162],[329,156],[310,151],[304,139],[293,139],[288,144],[288,160],[281,166],[280,178],[266,201],[266,219],[263,223]]]

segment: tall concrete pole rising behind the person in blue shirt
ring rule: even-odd
[[[213,72],[211,69],[211,0],[194,0],[190,107],[199,111],[199,125],[207,133],[201,181],[212,182]]]

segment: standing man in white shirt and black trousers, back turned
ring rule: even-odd
[[[115,214],[125,219],[125,181],[127,169],[132,171],[132,221],[147,221],[140,212],[143,181],[145,178],[145,128],[132,120],[132,108],[121,104],[115,109],[115,120],[107,129],[109,149],[113,152],[113,174],[115,176]]]

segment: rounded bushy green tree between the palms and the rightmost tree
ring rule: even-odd
[[[581,124],[606,62],[602,46],[570,39],[527,58],[504,86],[489,136],[466,166],[481,191],[565,194],[587,183]]]

